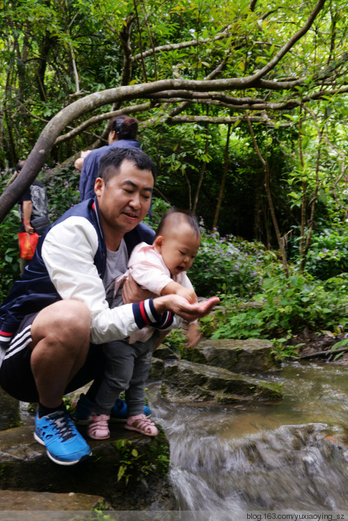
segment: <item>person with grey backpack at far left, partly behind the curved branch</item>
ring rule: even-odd
[[[19,161],[16,166],[17,175],[22,170],[25,161]],[[50,226],[49,210],[47,205],[47,191],[42,182],[35,179],[25,194],[19,199],[19,215],[21,224],[19,232],[38,233],[42,235]],[[23,274],[24,267],[30,260],[21,258],[19,260],[19,270]]]

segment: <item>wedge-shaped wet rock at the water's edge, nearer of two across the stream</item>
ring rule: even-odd
[[[283,398],[280,386],[273,382],[188,361],[173,362],[164,368],[161,393],[169,401],[180,403],[235,403]]]

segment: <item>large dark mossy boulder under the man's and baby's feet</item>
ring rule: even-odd
[[[125,430],[122,423],[111,423],[110,428],[109,440],[88,441],[93,456],[68,467],[47,458],[45,447],[33,438],[33,425],[3,430],[0,489],[97,496],[115,510],[143,510],[152,504],[158,510],[175,509],[164,434],[145,437]]]

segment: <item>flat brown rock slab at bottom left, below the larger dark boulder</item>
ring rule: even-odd
[[[74,492],[0,490],[0,511],[88,511],[92,508],[106,510],[109,505],[103,497]]]

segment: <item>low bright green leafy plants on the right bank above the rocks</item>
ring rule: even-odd
[[[338,284],[328,291],[310,275],[265,277],[262,292],[251,302],[226,295],[216,313],[201,323],[203,334],[213,339],[273,339],[306,326],[338,333],[348,323],[347,290]]]

